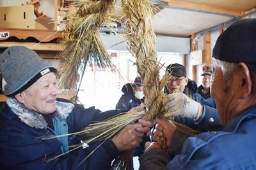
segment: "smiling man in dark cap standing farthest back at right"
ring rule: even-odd
[[[211,86],[211,81],[212,81],[212,70],[209,65],[203,66],[203,82],[202,84],[198,87],[197,93],[204,97],[204,99],[208,99],[211,97],[210,93],[210,86]]]

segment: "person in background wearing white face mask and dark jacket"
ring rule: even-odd
[[[141,77],[136,77],[133,83],[127,83],[122,87],[124,93],[116,104],[116,109],[126,109],[137,107],[144,103],[143,81]]]

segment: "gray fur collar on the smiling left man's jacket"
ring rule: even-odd
[[[8,97],[6,100],[6,104],[8,104],[12,112],[29,127],[47,128],[47,123],[42,114],[27,109],[15,98]],[[74,104],[56,101],[56,107],[57,109],[54,112],[54,118],[65,121],[68,114],[72,111],[72,109],[74,109]]]

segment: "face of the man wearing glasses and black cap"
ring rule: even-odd
[[[177,75],[172,75],[172,78],[166,84],[166,88],[170,93],[183,93],[187,84],[188,77],[179,77]]]

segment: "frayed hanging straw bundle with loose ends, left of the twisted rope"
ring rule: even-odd
[[[115,0],[85,0],[72,4],[74,10],[68,12],[70,26],[64,30],[68,31],[68,36],[63,34],[67,41],[58,54],[63,68],[60,89],[76,89],[76,82],[79,80],[77,73],[82,73],[83,78],[87,63],[91,67],[98,66],[99,70],[116,70],[98,31],[102,23],[110,22],[109,13],[114,10],[114,4]]]

